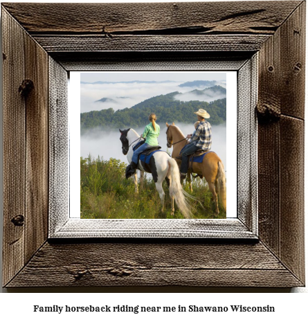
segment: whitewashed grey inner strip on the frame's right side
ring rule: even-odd
[[[257,235],[258,55],[237,71],[237,217]]]

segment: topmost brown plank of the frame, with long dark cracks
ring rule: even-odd
[[[3,3],[29,33],[273,34],[300,1]],[[27,15],[24,14],[27,12]],[[108,12],[108,15],[106,14]]]

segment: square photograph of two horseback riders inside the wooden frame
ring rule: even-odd
[[[226,73],[80,73],[80,218],[226,218]]]

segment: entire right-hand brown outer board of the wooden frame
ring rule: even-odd
[[[303,157],[305,110],[305,3],[260,51],[260,238],[301,280],[304,278]],[[298,68],[296,67],[298,66]],[[284,116],[285,114],[293,117]]]

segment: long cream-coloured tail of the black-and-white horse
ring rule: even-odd
[[[179,211],[181,211],[183,216],[185,218],[190,218],[190,206],[185,198],[185,196],[189,197],[190,195],[188,195],[188,193],[186,193],[182,188],[179,166],[172,158],[170,158],[168,162],[171,176],[171,184],[169,187],[170,197],[174,197],[176,206],[178,206]]]

